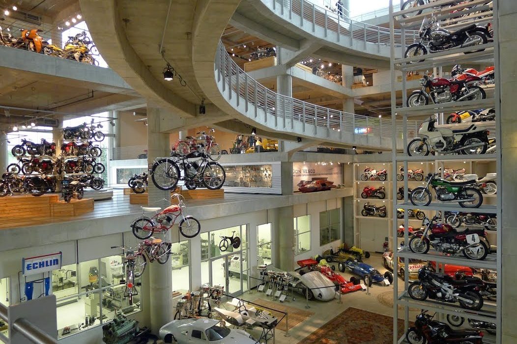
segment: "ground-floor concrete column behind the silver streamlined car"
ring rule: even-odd
[[[293,206],[284,206],[268,211],[268,221],[273,223],[275,245],[273,245],[273,261],[276,267],[284,271],[292,271],[294,267],[294,211]]]

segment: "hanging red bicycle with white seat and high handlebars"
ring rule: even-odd
[[[176,219],[181,216],[181,221],[179,221],[179,232],[181,235],[193,238],[201,231],[201,225],[197,219],[193,216],[185,216],[183,214],[183,209],[186,208],[185,198],[178,193],[172,195],[172,197],[176,197],[178,199],[178,204],[172,204],[166,207],[164,210],[161,210],[160,207],[142,207],[143,216],[134,220],[131,223],[131,230],[133,231],[134,236],[141,240],[145,240],[150,238],[155,232],[165,233],[170,230]],[[155,212],[153,217],[145,216],[145,212]]]

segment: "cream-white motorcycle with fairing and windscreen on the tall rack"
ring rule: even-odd
[[[466,129],[436,128],[432,116],[418,129],[420,137],[407,144],[409,156],[427,156],[432,150],[439,153],[484,154],[489,144],[490,131],[475,124]]]

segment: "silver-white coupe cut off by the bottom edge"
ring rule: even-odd
[[[215,319],[173,320],[160,328],[160,338],[165,343],[178,344],[256,344],[253,337],[242,330],[232,330]]]

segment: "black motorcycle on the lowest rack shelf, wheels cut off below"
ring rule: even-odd
[[[406,331],[410,344],[483,344],[483,333],[479,330],[452,330],[444,322],[433,320],[434,316],[423,310],[415,320],[415,326]]]

